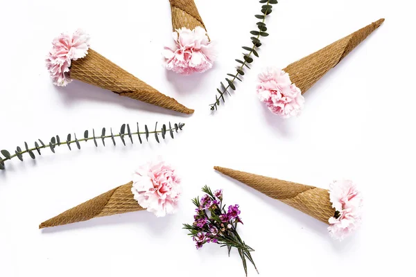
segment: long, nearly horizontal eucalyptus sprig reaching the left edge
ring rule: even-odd
[[[166,134],[169,133],[171,135],[171,138],[174,139],[174,135],[173,132],[177,132],[178,130],[182,130],[182,128],[184,127],[184,123],[175,123],[175,125],[171,125],[171,123],[169,122],[169,127],[166,127],[166,125],[162,125],[162,128],[157,129],[157,123],[155,124],[155,131],[149,132],[148,129],[148,125],[144,125],[144,132],[140,132],[139,130],[139,123],[137,123],[137,132],[132,132],[132,129],[130,128],[130,125],[126,125],[123,124],[121,125],[120,128],[120,132],[119,134],[113,134],[112,132],[112,128],[110,128],[110,134],[107,134],[106,129],[103,128],[101,129],[101,136],[96,136],[95,130],[92,129],[92,136],[89,136],[89,131],[85,130],[84,132],[84,136],[83,139],[77,139],[76,134],[73,134],[73,138],[71,136],[71,134],[67,135],[67,140],[66,141],[61,141],[60,136],[52,136],[51,140],[49,141],[49,143],[44,143],[42,140],[38,140],[39,142],[35,141],[34,145],[35,147],[33,148],[29,148],[28,143],[24,143],[24,148],[25,150],[22,150],[19,146],[17,146],[16,150],[15,150],[15,154],[10,154],[10,152],[8,152],[8,150],[1,150],[1,154],[3,154],[3,157],[1,157],[0,155],[0,170],[4,170],[5,161],[11,160],[15,157],[17,157],[20,161],[23,161],[23,154],[28,153],[29,156],[32,159],[36,159],[36,155],[35,152],[37,152],[37,154],[41,155],[41,151],[44,148],[49,148],[53,153],[55,153],[55,148],[56,146],[60,146],[60,145],[67,145],[69,150],[72,150],[71,148],[71,144],[75,143],[76,147],[78,149],[81,149],[81,145],[80,142],[82,141],[94,141],[94,145],[96,145],[96,147],[98,147],[98,143],[97,140],[101,140],[103,142],[103,145],[105,146],[105,139],[112,139],[112,143],[114,145],[116,145],[116,137],[119,137],[121,139],[121,142],[123,143],[123,145],[125,145],[125,136],[128,136],[128,138],[130,139],[131,143],[133,143],[133,136],[137,136],[139,139],[140,144],[143,143],[142,139],[141,139],[141,135],[146,136],[146,141],[148,141],[150,134],[154,134],[155,135],[155,140],[157,141],[157,143],[160,143],[159,140],[159,135],[162,135],[162,139],[166,138]]]

